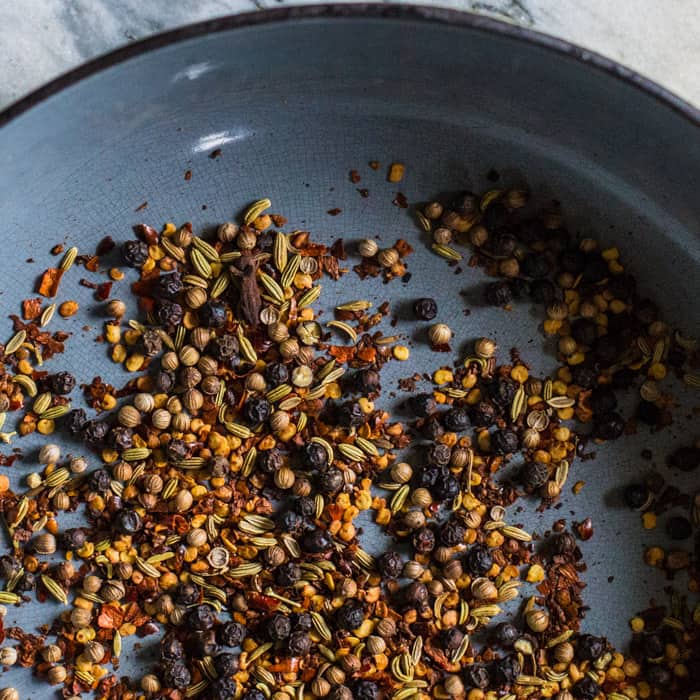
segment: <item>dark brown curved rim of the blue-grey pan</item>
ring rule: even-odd
[[[6,107],[0,112],[0,128],[43,100],[71,85],[75,85],[83,78],[95,75],[102,70],[154,49],[175,44],[186,39],[229,29],[252,27],[258,24],[270,24],[287,20],[319,18],[407,19],[468,27],[485,33],[505,36],[510,39],[545,48],[555,54],[573,58],[585,66],[611,75],[661,102],[687,119],[692,125],[700,126],[700,109],[681,99],[670,90],[661,87],[653,80],[645,78],[616,61],[606,58],[594,51],[576,46],[564,39],[558,39],[532,29],[507,24],[490,17],[462,12],[460,10],[426,7],[423,5],[358,3],[347,5],[304,5],[245,12],[189,24],[161,34],[146,37],[145,39],[135,41],[102,56],[98,56],[87,63],[83,63],[77,68],[60,75],[37,90],[34,90],[17,102],[12,103],[9,107]]]

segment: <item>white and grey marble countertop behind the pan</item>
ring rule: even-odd
[[[0,2],[0,109],[81,62],[134,39],[286,1],[5,0]],[[422,3],[484,12],[568,39],[626,64],[700,106],[697,0]]]

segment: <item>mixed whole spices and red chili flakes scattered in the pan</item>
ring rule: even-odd
[[[403,174],[394,163],[388,179]],[[321,322],[320,281],[350,273],[345,245],[283,233],[267,199],[215,238],[189,224],[137,227],[121,254],[139,273],[138,319],[110,299],[119,269],[104,284],[85,281],[106,302],[112,360],[134,378],[121,389],[96,378],[82,385],[94,413],[71,408],[78,380],[43,362],[67,339],[46,330],[54,311],[78,307],[50,300],[72,266],[96,271],[113,243],[95,255],[68,250],[0,346],[0,424],[19,415],[0,439],[16,447],[61,429],[90,451],[65,455],[47,440],[21,493],[0,474],[10,542],[2,613],[32,592],[62,605],[40,630],[4,628],[0,616],[0,664],[31,667],[65,698],[698,700],[700,605],[674,592],[640,612],[623,654],[605,630],[580,631],[578,542],[592,536],[591,521],[558,520],[536,542],[511,515],[533,497],[555,505],[596,442],[668,424],[666,374],[700,384],[696,341],[639,296],[617,249],[575,239],[558,209],[532,213],[527,202],[524,190],[462,193],[416,216],[450,264],[463,260],[456,245],[471,244],[468,265],[491,276],[487,304],[525,298],[544,310],[559,370],[533,376],[517,350],[499,358],[485,333],[461,366],[435,354],[434,367],[420,368],[432,391],[416,390],[420,375],[402,380],[407,421],[377,405],[382,367],[410,354],[378,330],[389,304],[348,301]],[[406,281],[405,241],[382,248],[368,238],[355,251],[360,277]],[[432,324],[436,353],[449,350],[436,302],[416,299],[414,313]],[[618,408],[626,390],[640,396],[632,416]],[[501,478],[518,455],[517,480]],[[17,457],[0,457],[3,470]],[[700,445],[679,445],[669,462],[697,470]],[[624,497],[647,528],[685,506],[688,517],[667,522],[678,549],[652,547],[645,558],[685,572],[692,598],[700,497],[659,477]],[[62,527],[78,509],[85,523]],[[395,546],[370,555],[368,527]],[[158,639],[158,661],[140,678],[119,672],[131,636]]]

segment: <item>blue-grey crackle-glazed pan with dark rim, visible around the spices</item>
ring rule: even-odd
[[[399,378],[460,362],[482,335],[499,343],[502,356],[516,346],[533,371],[551,372],[555,359],[538,314],[525,303],[510,313],[484,307],[483,275],[449,268],[410,209],[392,204],[399,190],[411,203],[483,191],[496,170],[499,185],[526,183],[536,201],[559,200],[573,232],[617,245],[670,323],[691,334],[700,327],[700,113],[618,64],[529,30],[410,6],[239,15],[92,61],[7,109],[0,126],[3,318],[30,296],[56,243],[90,252],[106,235],[126,239],[139,222],[192,221],[207,231],[270,197],[289,230],[308,229],[328,243],[405,238],[415,248],[410,282],[360,282],[351,273],[327,282],[322,297],[329,308],[356,298],[391,301],[397,325],[384,331],[404,335],[411,359],[386,368],[383,386],[396,397],[385,392],[385,405],[405,398]],[[221,149],[215,159],[214,149]],[[370,160],[382,170],[372,171]],[[386,182],[392,161],[406,164],[399,185]],[[349,182],[352,168],[361,184]],[[76,299],[81,310],[60,320],[72,337],[49,368],[121,385],[128,375],[95,342],[101,304],[79,277],[67,275],[61,288],[61,300]],[[127,298],[127,281],[113,296]],[[451,354],[430,352],[424,324],[407,312],[420,296],[435,297],[438,320],[455,331]],[[3,328],[9,338],[9,322]],[[618,644],[627,639],[628,618],[650,598],[665,600],[668,585],[642,560],[645,546],[665,544],[663,529],[642,530],[639,515],[622,505],[621,486],[654,468],[691,493],[700,486],[665,465],[673,447],[698,437],[690,410],[697,394],[666,386],[679,405],[673,426],[640,428],[598,448],[595,460],[576,462],[559,509],[537,513],[530,503],[508,516],[538,533],[560,517],[592,517],[595,535],[582,544],[585,628]],[[73,454],[81,450],[61,440]],[[15,486],[37,468],[43,441],[17,443],[25,457],[5,469]],[[640,457],[644,449],[650,462]],[[578,496],[569,488],[576,480],[585,482]],[[387,542],[370,532],[365,546],[378,551]],[[675,585],[684,588],[682,580]],[[10,610],[6,625],[16,619],[33,631],[57,612],[51,604],[25,605]],[[147,655],[147,644],[138,652],[128,646],[122,671],[144,672]],[[46,690],[16,669],[3,674],[10,684],[23,698]]]

